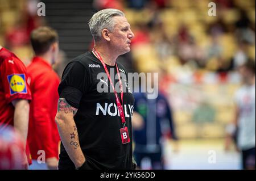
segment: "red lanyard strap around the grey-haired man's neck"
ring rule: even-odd
[[[121,102],[120,102],[120,100],[119,100],[119,98],[118,98],[117,91],[115,91],[115,88],[114,88],[112,79],[111,79],[110,74],[109,74],[109,70],[108,70],[108,68],[106,67],[105,62],[102,60],[102,57],[101,57],[100,54],[97,52],[97,50],[96,50],[95,48],[93,48],[92,52],[93,52],[94,56],[96,56],[96,57],[98,58],[98,60],[101,61],[101,64],[104,66],[104,69],[105,69],[105,71],[106,71],[106,74],[108,75],[110,85],[112,86],[112,88],[113,88],[113,90],[114,90],[115,101],[117,102],[117,108],[118,108],[118,111],[119,111],[119,113],[120,113],[123,126],[125,127],[125,114],[124,114],[124,112],[123,112],[122,104],[121,104]],[[118,75],[119,86],[120,86],[120,90],[121,90],[121,101],[122,101],[122,103],[123,103],[123,86],[122,86],[122,82],[121,82],[121,78],[120,78],[120,73],[119,73],[117,64],[115,64],[115,66],[116,66],[116,68],[117,68],[117,75]]]

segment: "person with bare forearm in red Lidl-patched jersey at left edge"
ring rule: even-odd
[[[14,53],[0,46],[0,130],[12,125],[21,135],[24,148],[31,100],[26,67]],[[23,150],[22,168],[28,169],[29,149]],[[27,154],[27,155],[26,155]]]

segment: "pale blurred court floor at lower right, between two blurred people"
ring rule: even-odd
[[[224,139],[180,140],[178,151],[173,142],[165,142],[164,157],[168,170],[238,170],[241,156],[234,146],[224,149]]]

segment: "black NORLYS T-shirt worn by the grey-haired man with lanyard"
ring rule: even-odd
[[[122,105],[131,140],[134,97],[127,83],[128,75],[125,68],[121,64],[117,65],[122,76]],[[119,92],[116,67],[107,65],[107,68],[115,89]],[[80,146],[92,169],[131,169],[132,140],[128,144],[122,144],[119,131],[122,123],[115,95],[104,66],[92,52],[81,54],[69,62],[59,85],[59,95],[78,109],[74,120]],[[118,96],[120,99],[119,93]],[[62,143],[59,169],[75,169]]]

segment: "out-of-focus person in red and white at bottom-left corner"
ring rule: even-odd
[[[23,140],[13,127],[0,127],[0,170],[23,169],[24,149]]]

